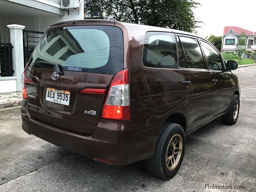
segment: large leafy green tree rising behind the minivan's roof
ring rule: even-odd
[[[195,19],[193,9],[199,5],[194,0],[84,0],[84,12],[85,18],[118,20],[195,32],[201,21]]]

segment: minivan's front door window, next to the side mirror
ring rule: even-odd
[[[215,49],[213,49],[210,44],[204,41],[201,41],[201,44],[204,54],[207,58],[208,68],[212,70],[222,70],[221,58],[219,53],[215,51]]]

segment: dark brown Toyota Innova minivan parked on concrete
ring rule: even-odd
[[[185,136],[221,116],[235,124],[239,79],[194,34],[111,20],[51,25],[22,76],[22,128],[96,161],[146,159],[170,179]]]

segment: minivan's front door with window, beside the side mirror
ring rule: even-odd
[[[209,43],[200,40],[204,55],[207,59],[208,68],[211,73],[212,104],[210,108],[210,119],[225,112],[229,106],[230,95],[230,72],[224,71],[224,65],[220,54]]]

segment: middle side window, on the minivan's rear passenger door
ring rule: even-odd
[[[180,36],[188,68],[205,69],[204,59],[197,39]]]

